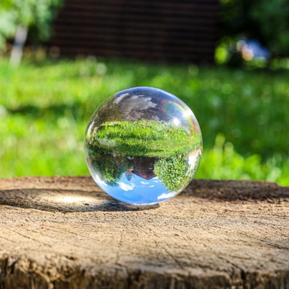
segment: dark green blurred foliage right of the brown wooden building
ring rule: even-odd
[[[288,57],[289,0],[221,0],[221,36],[231,48],[245,37],[259,40],[273,58]]]

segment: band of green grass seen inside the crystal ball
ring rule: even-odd
[[[199,133],[164,121],[110,121],[92,130],[87,140],[91,151],[104,150],[136,157],[168,157],[181,155],[201,146]]]

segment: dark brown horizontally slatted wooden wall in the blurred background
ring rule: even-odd
[[[218,0],[66,0],[50,46],[148,61],[213,62]]]

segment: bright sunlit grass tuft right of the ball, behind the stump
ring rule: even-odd
[[[231,142],[225,141],[223,134],[216,136],[215,145],[205,150],[197,178],[211,179],[255,179],[278,182],[288,186],[288,159],[275,154],[262,162],[261,155],[244,157],[236,152]]]

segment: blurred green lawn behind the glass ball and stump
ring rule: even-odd
[[[92,112],[133,86],[187,103],[203,134],[198,178],[289,185],[289,72],[124,60],[0,58],[0,177],[88,174],[83,139]]]

